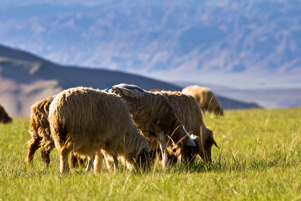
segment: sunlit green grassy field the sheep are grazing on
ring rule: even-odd
[[[207,115],[220,149],[213,164],[199,158],[145,172],[72,169],[61,176],[57,150],[48,168],[36,152],[26,167],[29,118],[0,125],[0,200],[300,200],[301,108],[227,110]]]

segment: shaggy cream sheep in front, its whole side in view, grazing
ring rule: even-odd
[[[150,159],[147,139],[137,129],[126,104],[113,93],[86,87],[57,94],[49,106],[51,136],[60,155],[61,174],[70,172],[68,154],[95,154],[94,171],[118,171],[120,157],[130,169],[145,168]],[[140,166],[141,165],[141,166]]]

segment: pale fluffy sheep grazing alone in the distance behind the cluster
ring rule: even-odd
[[[191,85],[185,87],[182,90],[182,93],[187,93],[193,96],[200,105],[200,109],[204,114],[208,111],[213,112],[215,115],[224,115],[221,104],[209,88]]]

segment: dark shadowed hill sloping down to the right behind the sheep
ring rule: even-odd
[[[115,84],[127,83],[145,90],[182,90],[180,86],[133,74],[60,66],[5,46],[0,46],[0,79],[0,103],[13,117],[29,116],[29,107],[35,102],[76,86],[105,89]],[[259,107],[257,104],[220,96],[218,99],[225,109]]]

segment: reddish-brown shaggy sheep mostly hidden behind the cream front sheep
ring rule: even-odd
[[[55,96],[51,96],[36,102],[30,107],[30,124],[29,133],[31,140],[28,142],[27,152],[27,164],[29,165],[33,161],[34,153],[39,147],[41,147],[41,156],[45,164],[48,166],[50,163],[50,152],[54,149],[54,141],[50,135],[50,125],[48,121],[49,105]],[[72,153],[71,164],[72,167],[76,167],[77,164],[83,164],[83,160],[79,159]],[[90,170],[92,167],[91,162],[88,162],[86,170]]]

